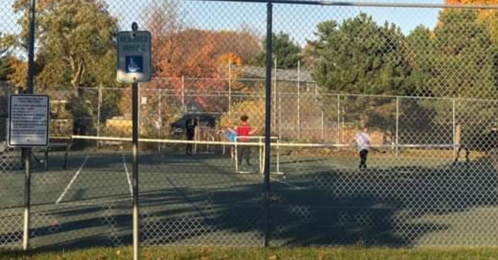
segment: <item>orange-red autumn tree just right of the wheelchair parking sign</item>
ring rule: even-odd
[[[152,34],[152,66],[157,79],[148,86],[174,90],[177,97],[188,93],[182,96],[185,103],[196,101],[208,111],[221,112],[228,105],[228,99],[208,98],[204,94],[228,90],[229,61],[241,66],[243,56],[249,60],[258,52],[258,39],[247,30],[184,28],[174,2],[155,6],[147,29]],[[232,79],[239,76],[231,75]]]

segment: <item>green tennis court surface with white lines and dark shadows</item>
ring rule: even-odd
[[[281,154],[271,158],[272,245],[493,245],[498,229],[497,172],[487,159],[372,154]],[[278,161],[278,167],[277,167]],[[50,154],[35,164],[31,231],[36,247],[128,245],[132,157],[120,151]],[[264,230],[264,176],[256,153],[245,172],[222,154],[139,156],[140,239],[144,245],[259,246]],[[0,174],[0,241],[22,241],[24,175]],[[8,222],[5,222],[8,220]],[[451,238],[451,239],[449,239]],[[470,240],[469,240],[470,238]]]

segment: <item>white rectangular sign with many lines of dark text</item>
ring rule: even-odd
[[[10,147],[48,146],[50,102],[46,95],[10,95],[8,142]]]

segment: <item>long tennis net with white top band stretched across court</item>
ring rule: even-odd
[[[129,151],[131,150],[131,138],[124,137],[97,137],[73,135],[73,139],[84,139],[100,143],[100,150],[107,151]],[[215,140],[184,140],[184,139],[153,139],[139,138],[140,151],[146,153],[158,153],[165,156],[174,155],[175,158],[183,161],[193,160],[196,157],[191,155],[202,156],[204,159],[223,158],[231,155],[233,148],[233,160],[231,164],[238,173],[263,173],[265,169],[265,137],[250,136],[247,141],[235,142],[224,141],[223,139]],[[188,154],[186,150],[192,149],[193,153]],[[251,156],[250,164],[257,169],[246,167],[246,158],[241,158],[242,148],[249,147],[251,153],[257,156]],[[328,160],[328,165],[348,165],[347,168],[356,168],[358,160],[358,149],[354,144],[341,143],[296,143],[282,142],[278,137],[270,137],[270,174],[285,174],[286,171],[296,171],[292,167],[308,167],[311,161]],[[378,167],[391,167],[401,161],[407,161],[412,164],[421,164],[423,161],[437,160],[441,162],[452,162],[456,158],[458,145],[453,144],[379,144],[372,145],[372,153],[369,157],[378,157],[375,162]],[[186,157],[183,157],[186,156]],[[474,153],[473,156],[478,156]],[[242,159],[242,161],[241,161]],[[223,160],[227,164],[229,160]],[[308,163],[301,163],[308,161]],[[249,161],[247,161],[249,162]],[[249,163],[248,163],[249,164]],[[283,165],[285,164],[285,167]],[[398,163],[400,164],[400,163]],[[298,166],[295,166],[298,165]],[[346,167],[346,166],[344,166]]]

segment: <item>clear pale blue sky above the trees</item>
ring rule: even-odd
[[[14,0],[1,0],[1,32],[18,32],[17,17],[12,12]],[[132,21],[137,21],[142,29],[144,13],[151,9],[153,3],[161,0],[106,0],[109,11],[118,17],[121,28],[129,30]],[[376,0],[387,2],[389,0]],[[409,3],[413,1],[398,0]],[[417,0],[417,3],[424,3]],[[431,0],[426,3],[443,3]],[[248,28],[263,37],[266,32],[266,4],[251,2],[214,2],[198,0],[180,0],[179,9],[185,25],[208,30],[240,30]],[[402,32],[408,34],[417,25],[433,28],[437,22],[439,8],[401,8],[401,7],[355,7],[355,6],[317,6],[273,4],[273,31],[283,31],[298,44],[304,45],[307,39],[314,39],[316,25],[325,20],[343,21],[354,17],[360,11],[372,15],[378,24],[385,21],[398,25]],[[140,24],[142,23],[142,24]]]

